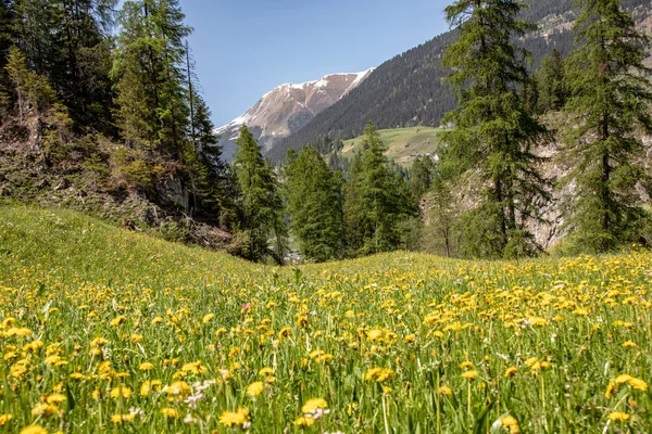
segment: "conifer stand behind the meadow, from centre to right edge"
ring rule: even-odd
[[[442,66],[452,71],[447,84],[457,107],[443,117],[440,158],[417,158],[409,174],[392,176],[373,124],[365,150],[341,173],[313,148],[290,150],[284,188],[302,252],[324,260],[423,248],[425,240],[449,256],[536,256],[543,248],[532,224],[549,222],[551,206],[561,214],[564,252],[649,243],[652,182],[641,140],[652,132],[649,38],[618,0],[576,5],[573,50],[567,58],[553,50],[534,74],[517,43],[537,28],[523,18],[523,2],[448,7],[459,38]],[[543,145],[555,148],[554,161]],[[337,146],[330,151],[340,169]],[[546,164],[564,175],[548,177]],[[474,191],[461,204],[465,186]],[[561,189],[567,194],[553,204]],[[429,210],[419,220],[423,197]]]

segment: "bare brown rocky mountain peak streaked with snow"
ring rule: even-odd
[[[224,157],[230,162],[236,152],[238,130],[244,124],[263,151],[303,128],[365,80],[374,68],[354,74],[330,74],[300,85],[278,86],[263,95],[247,113],[216,129]]]

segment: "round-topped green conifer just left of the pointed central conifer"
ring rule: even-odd
[[[285,168],[290,229],[304,257],[324,261],[341,257],[341,184],[314,148],[288,152]]]

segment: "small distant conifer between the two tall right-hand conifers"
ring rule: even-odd
[[[537,79],[537,111],[560,111],[566,105],[568,92],[565,82],[565,65],[561,53],[552,50],[552,55],[546,55],[541,68],[536,74]]]

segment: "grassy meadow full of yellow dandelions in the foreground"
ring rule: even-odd
[[[651,264],[280,269],[0,208],[0,432],[652,432]]]

